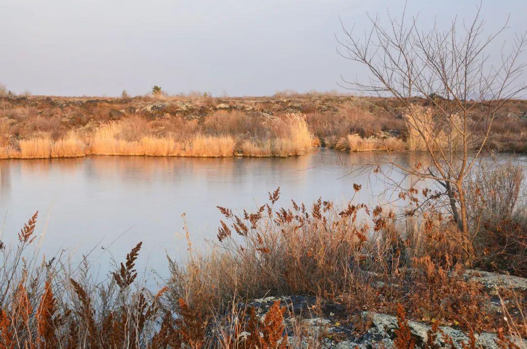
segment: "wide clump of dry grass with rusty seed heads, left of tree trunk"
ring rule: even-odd
[[[485,329],[503,325],[497,313],[474,311],[490,298],[463,279],[456,263],[462,255],[456,244],[460,232],[440,213],[419,221],[412,232],[380,207],[339,210],[319,200],[311,209],[296,203],[274,209],[277,198],[278,191],[270,193],[267,205],[242,217],[220,208],[230,224],[221,222],[219,249],[192,256],[188,265],[171,263],[172,297],[184,297],[207,313],[229,299],[260,297],[269,290],[277,295],[322,292],[346,295],[348,306],[357,311],[394,313],[395,305],[403,303],[419,319],[469,319]],[[360,216],[367,218],[361,221]],[[377,281],[415,287],[367,290]],[[193,303],[197,295],[208,302]]]

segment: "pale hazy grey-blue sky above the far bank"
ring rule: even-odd
[[[479,0],[406,2],[423,26],[471,18]],[[271,95],[346,92],[363,66],[339,56],[335,34],[367,29],[367,14],[400,14],[404,0],[0,0],[0,83],[15,93]],[[525,0],[483,1],[503,40],[527,30]],[[499,49],[499,47],[496,47]]]

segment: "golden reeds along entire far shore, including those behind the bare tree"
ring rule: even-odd
[[[431,119],[430,111],[416,106],[414,113],[404,114],[404,123],[423,130],[435,143],[445,143],[444,134]],[[363,114],[355,115],[364,117]],[[413,115],[413,116],[412,116]],[[141,117],[101,123],[89,130],[70,130],[60,137],[53,132],[37,132],[27,139],[0,139],[0,159],[75,158],[89,155],[161,156],[161,157],[290,157],[304,154],[320,145],[343,151],[425,150],[419,134],[408,127],[405,138],[378,137],[339,132],[343,137],[316,137],[317,126],[309,126],[303,114],[289,113],[269,120],[247,119],[236,112],[217,112],[204,127],[188,121],[171,132],[160,133],[155,122]],[[312,122],[313,123],[313,122]],[[0,125],[1,126],[1,125]],[[4,135],[8,135],[4,122]],[[252,132],[252,135],[251,135]],[[348,130],[349,132],[349,130]],[[458,142],[454,139],[454,145]]]

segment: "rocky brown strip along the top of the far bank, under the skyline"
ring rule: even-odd
[[[415,99],[418,104],[427,105],[424,99]],[[345,104],[353,104],[370,112],[388,111],[395,115],[402,109],[401,103],[394,99],[381,99],[376,97],[357,97],[341,95],[295,95],[295,96],[263,96],[263,97],[178,97],[173,98],[88,98],[88,97],[61,97],[61,96],[12,96],[0,98],[0,109],[12,106],[33,106],[38,109],[80,108],[82,111],[89,106],[115,106],[114,119],[119,119],[126,113],[145,112],[152,116],[164,114],[183,115],[187,117],[200,117],[215,110],[241,110],[245,112],[336,112]],[[477,111],[474,111],[477,113]],[[72,115],[66,115],[66,118]],[[522,121],[527,120],[527,100],[513,100],[505,104],[500,120]]]

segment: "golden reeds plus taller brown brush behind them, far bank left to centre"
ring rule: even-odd
[[[2,119],[4,120],[4,119]],[[40,119],[35,119],[39,123]],[[34,125],[36,125],[33,123]],[[196,120],[148,121],[135,115],[119,121],[71,131],[54,138],[42,124],[34,138],[10,144],[6,137],[0,147],[2,158],[50,158],[85,155],[231,157],[295,156],[314,144],[306,121],[298,114],[286,114],[270,120],[250,118],[241,112],[220,111],[203,125]],[[0,126],[8,130],[9,122]],[[7,132],[8,134],[8,132]],[[241,153],[237,151],[241,149]]]

